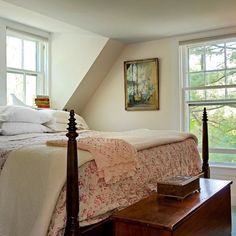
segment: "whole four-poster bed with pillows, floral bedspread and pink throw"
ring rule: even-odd
[[[158,180],[209,177],[206,110],[203,162],[193,134],[95,131],[73,111],[67,128],[68,117],[0,108],[0,235],[112,235],[113,213],[148,197]]]

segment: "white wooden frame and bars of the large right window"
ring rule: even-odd
[[[190,101],[189,98],[187,98],[186,94],[187,91],[191,90],[209,90],[209,89],[217,89],[217,88],[236,88],[236,84],[230,84],[230,85],[214,85],[214,86],[199,86],[199,87],[191,87],[188,84],[188,75],[189,75],[189,55],[188,55],[188,47],[189,46],[206,46],[211,45],[214,43],[224,43],[227,42],[236,42],[236,37],[233,38],[221,38],[218,40],[206,40],[206,41],[198,41],[198,42],[186,42],[180,44],[180,78],[181,78],[181,110],[182,110],[182,117],[181,117],[181,127],[182,130],[189,132],[190,130],[190,117],[189,117],[189,109],[191,106],[208,106],[208,105],[229,105],[229,104],[235,104],[236,105],[236,99],[218,99],[218,100],[201,100],[201,101]],[[224,52],[224,54],[226,54]],[[224,55],[225,56],[225,55]],[[234,68],[228,68],[226,66],[226,57],[224,58],[225,68],[224,70],[225,74],[227,70],[236,70],[236,67]],[[206,72],[212,72],[212,71],[220,71],[219,70],[206,70],[206,61],[204,60],[203,63],[204,70],[201,70],[200,72],[206,73]],[[201,148],[199,148],[201,151]],[[236,154],[236,148],[218,148],[218,147],[209,147],[210,153],[217,153],[217,154]],[[229,164],[231,163],[227,162],[211,162],[211,164]],[[235,164],[234,164],[235,165]]]

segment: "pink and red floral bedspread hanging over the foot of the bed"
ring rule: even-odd
[[[90,132],[81,136],[90,136]],[[0,175],[10,151],[24,145],[62,139],[65,134],[40,135],[15,140],[0,140]],[[2,138],[2,137],[0,137]],[[201,160],[194,139],[161,145],[138,151],[137,171],[126,181],[113,184],[99,178],[94,161],[79,168],[80,226],[97,223],[114,211],[127,207],[156,190],[156,183],[167,176],[196,175],[201,170]],[[63,187],[55,206],[48,235],[63,235],[66,222],[66,189]]]

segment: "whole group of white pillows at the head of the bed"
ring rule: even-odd
[[[77,128],[88,129],[82,117],[75,115]],[[69,112],[36,110],[24,106],[0,106],[0,134],[17,135],[67,131]]]

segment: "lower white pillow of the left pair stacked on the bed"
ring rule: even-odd
[[[44,125],[25,122],[3,122],[1,123],[2,135],[17,135],[26,133],[44,133],[51,130]]]

